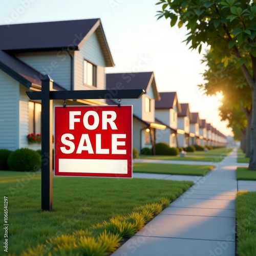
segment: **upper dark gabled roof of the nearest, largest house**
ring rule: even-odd
[[[6,52],[31,52],[49,50],[79,50],[87,38],[96,32],[106,67],[114,61],[99,18],[65,20],[0,26],[0,49]]]

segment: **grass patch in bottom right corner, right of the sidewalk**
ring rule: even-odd
[[[236,199],[237,254],[256,255],[256,192],[239,191]]]

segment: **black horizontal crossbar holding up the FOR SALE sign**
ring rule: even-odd
[[[145,93],[134,90],[50,91],[50,99],[138,99]],[[30,99],[42,99],[42,92],[26,92]]]

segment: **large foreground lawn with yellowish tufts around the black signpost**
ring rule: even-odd
[[[160,208],[162,210],[194,184],[53,177],[53,211],[42,212],[40,177],[40,173],[0,172],[0,196],[2,200],[8,197],[10,255],[50,255],[46,248],[51,255],[108,254],[121,239],[118,230],[131,234],[141,227],[141,223],[132,222],[139,220],[134,211],[143,216],[145,224],[145,220],[153,218]],[[146,206],[138,209],[144,205],[149,205],[148,209]],[[111,232],[113,230],[116,233]],[[1,229],[1,239],[3,232]],[[109,248],[108,253],[102,252],[104,248]]]

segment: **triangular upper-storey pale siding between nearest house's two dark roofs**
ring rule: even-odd
[[[61,87],[71,89],[71,58],[66,51],[15,55],[42,74],[48,74]]]

